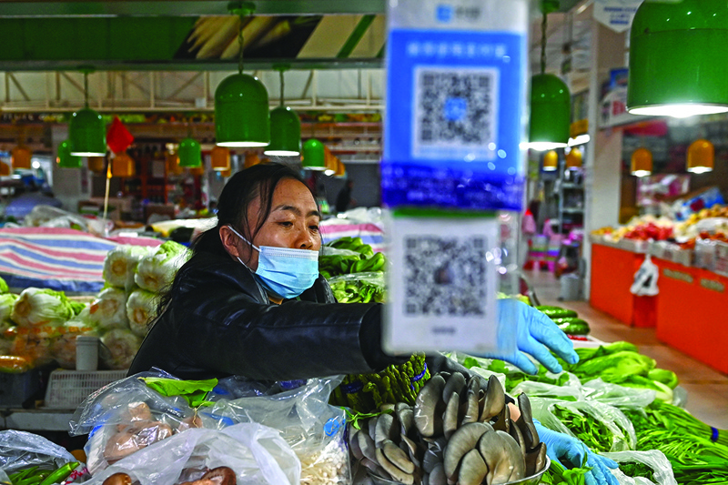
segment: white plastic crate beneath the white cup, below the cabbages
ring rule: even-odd
[[[126,378],[126,370],[54,370],[45,389],[45,408],[76,409],[97,389]]]

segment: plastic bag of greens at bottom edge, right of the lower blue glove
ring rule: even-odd
[[[602,456],[612,459],[620,464],[620,471],[627,479],[620,480],[625,485],[677,485],[677,480],[672,473],[672,465],[660,450],[649,451],[619,451],[613,453],[602,453]],[[642,477],[640,475],[647,475]],[[620,479],[619,476],[618,480]]]

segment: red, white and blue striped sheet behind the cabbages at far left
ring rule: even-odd
[[[143,246],[161,243],[148,238],[133,242]],[[36,287],[98,293],[104,286],[104,258],[117,244],[75,229],[0,229],[0,277],[14,291]]]

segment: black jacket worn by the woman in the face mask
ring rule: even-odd
[[[320,276],[300,300],[272,304],[248,268],[199,252],[179,270],[171,302],[129,375],[152,367],[180,379],[289,380],[377,371],[405,360],[381,350],[381,308],[336,303]]]

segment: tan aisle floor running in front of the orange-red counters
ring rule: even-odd
[[[654,328],[631,328],[619,320],[591,308],[586,301],[559,301],[559,281],[546,271],[527,271],[541,305],[557,305],[577,311],[591,326],[591,335],[606,342],[626,340],[640,352],[657,360],[657,365],[678,375],[680,385],[688,391],[687,409],[697,418],[719,429],[728,429],[728,376],[713,370],[655,336]]]

